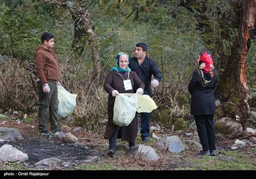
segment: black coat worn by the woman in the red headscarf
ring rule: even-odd
[[[191,114],[205,115],[215,113],[214,89],[217,76],[214,69],[213,73],[214,77],[212,77],[211,82],[203,86],[198,69],[193,72],[192,79],[188,85],[189,93],[191,93]]]

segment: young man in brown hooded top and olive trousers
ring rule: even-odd
[[[45,31],[41,36],[42,44],[36,49],[36,86],[38,91],[38,129],[42,136],[51,137],[58,132],[58,85],[60,70],[56,55],[52,49],[54,35]],[[51,130],[47,130],[47,114]]]

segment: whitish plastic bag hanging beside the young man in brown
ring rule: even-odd
[[[77,95],[69,93],[63,86],[58,86],[58,114],[61,118],[67,117],[76,107]]]

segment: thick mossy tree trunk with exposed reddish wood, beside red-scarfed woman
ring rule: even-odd
[[[223,104],[224,113],[234,118],[236,115],[239,116],[245,127],[246,120],[250,117],[245,59],[249,31],[255,28],[256,1],[241,1],[240,7],[238,35],[228,57],[228,68],[220,76],[221,84],[217,88],[217,93]]]

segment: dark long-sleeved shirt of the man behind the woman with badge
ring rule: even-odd
[[[161,81],[163,75],[161,74],[156,61],[145,57],[145,60],[139,65],[138,60],[133,57],[129,59],[129,67],[132,71],[136,72],[141,81],[145,84],[144,94],[152,97],[152,90],[150,88],[151,78],[154,75],[157,81]]]

